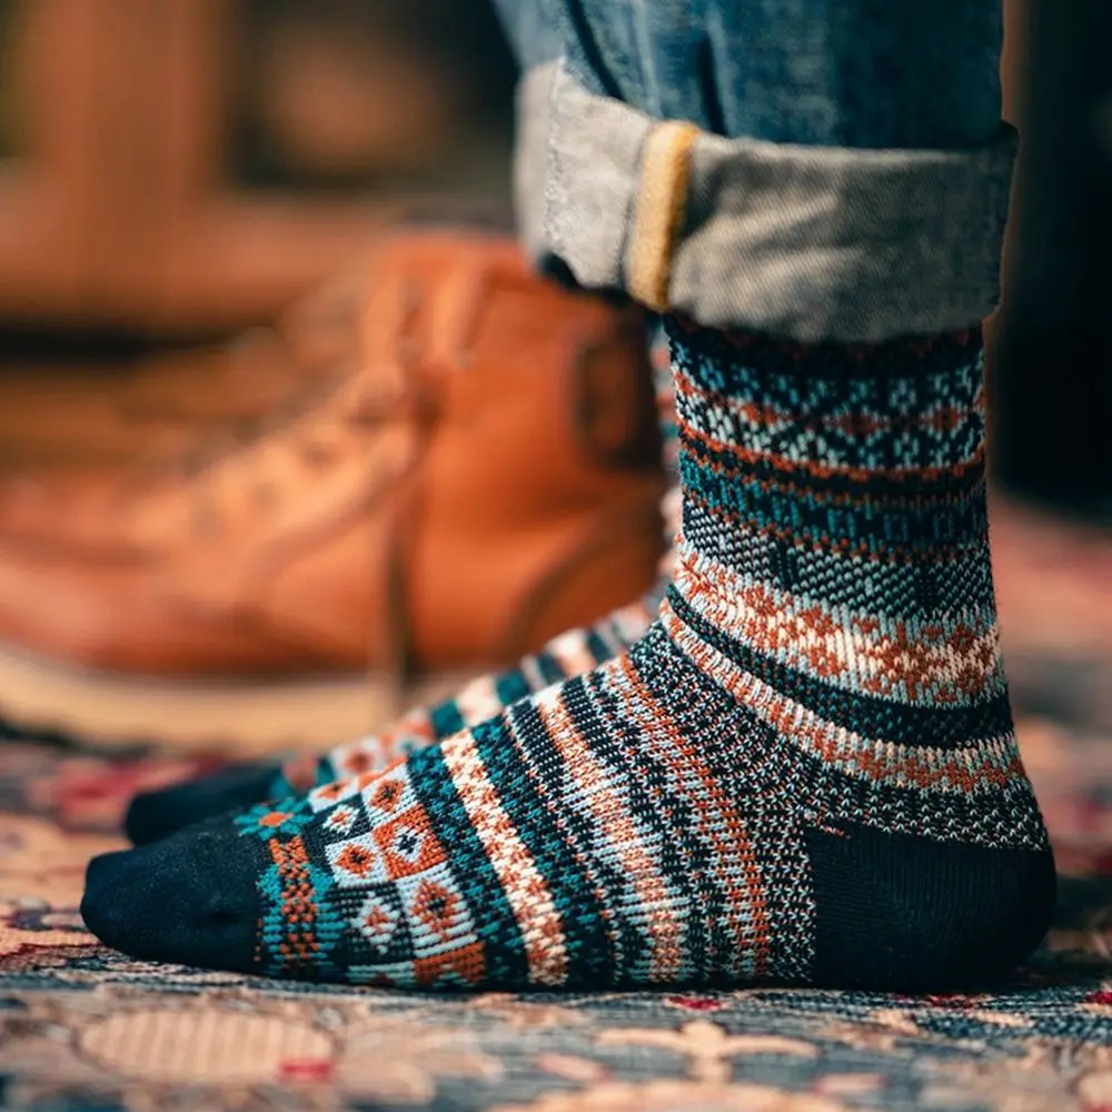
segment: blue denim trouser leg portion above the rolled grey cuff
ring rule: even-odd
[[[728,138],[957,148],[1000,126],[994,0],[496,0],[523,67]]]

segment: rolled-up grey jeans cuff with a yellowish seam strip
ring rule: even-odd
[[[523,80],[519,121],[524,241],[582,286],[807,342],[963,328],[999,301],[1004,125],[967,150],[724,139],[592,93],[558,62]]]

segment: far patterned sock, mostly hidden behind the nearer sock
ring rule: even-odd
[[[649,354],[661,423],[662,461],[667,473],[675,475],[678,459],[675,399],[663,329],[656,330]],[[234,764],[183,784],[137,795],[123,820],[125,833],[135,845],[146,845],[214,815],[268,800],[302,795],[342,776],[387,768],[427,745],[477,726],[519,698],[589,672],[624,653],[648,628],[672,578],[673,545],[679,529],[677,487],[665,496],[661,508],[668,550],[661,559],[656,583],[644,598],[593,626],[562,634],[513,668],[481,676],[451,698],[410,711],[376,734],[338,745],[320,755]]]

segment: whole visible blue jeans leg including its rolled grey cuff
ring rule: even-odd
[[[708,325],[874,340],[993,308],[993,0],[496,0],[535,254]]]

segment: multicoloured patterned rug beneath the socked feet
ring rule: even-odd
[[[132,792],[203,762],[12,738],[0,1106],[1112,1112],[1112,557],[1011,526],[1001,586],[1021,744],[1064,878],[1055,929],[1009,984],[437,997],[132,962],[83,930],[85,862],[117,844]]]

